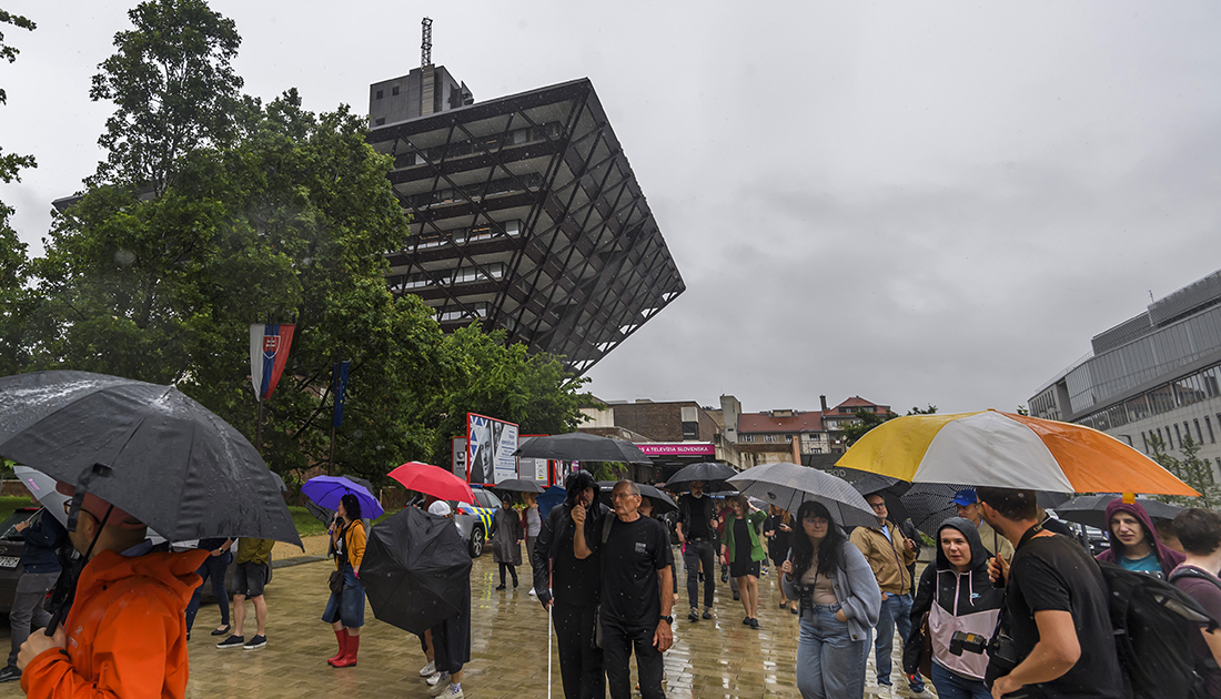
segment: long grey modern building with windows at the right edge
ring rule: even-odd
[[[1094,335],[1029,400],[1031,415],[1088,425],[1153,454],[1184,442],[1221,477],[1221,271]]]

